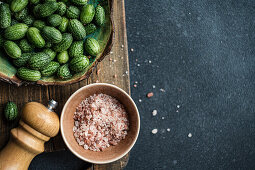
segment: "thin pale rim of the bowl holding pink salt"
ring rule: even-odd
[[[116,158],[113,158],[113,159],[110,159],[108,161],[94,161],[94,160],[91,160],[91,159],[87,159],[87,158],[84,158],[82,157],[81,155],[79,155],[77,152],[75,152],[71,146],[69,145],[69,143],[67,142],[65,136],[64,136],[64,132],[63,132],[63,126],[62,126],[62,122],[63,122],[63,114],[64,114],[64,111],[66,110],[66,107],[67,107],[67,103],[69,103],[71,101],[71,99],[76,95],[78,94],[79,92],[81,92],[83,89],[86,89],[86,88],[90,88],[92,86],[97,86],[97,85],[103,85],[103,86],[109,86],[111,88],[115,88],[117,90],[119,90],[120,92],[122,92],[123,94],[125,94],[125,96],[133,103],[133,105],[135,106],[135,110],[136,110],[136,113],[137,113],[137,117],[138,117],[138,130],[137,130],[137,134],[134,138],[134,140],[132,141],[132,144],[130,145],[130,147],[123,153],[123,154],[120,154],[119,156],[117,156]],[[130,152],[130,150],[133,148],[133,146],[135,145],[137,139],[138,139],[138,136],[139,136],[139,133],[140,133],[140,114],[139,114],[139,111],[138,111],[138,108],[134,102],[134,100],[131,98],[131,96],[126,92],[124,91],[123,89],[121,89],[120,87],[118,86],[115,86],[113,84],[109,84],[109,83],[92,83],[92,84],[89,84],[89,85],[86,85],[84,87],[81,87],[80,89],[78,89],[77,91],[75,91],[69,98],[68,100],[66,101],[63,109],[62,109],[62,112],[61,112],[61,116],[60,116],[60,132],[61,132],[61,136],[67,146],[67,148],[75,155],[77,156],[78,158],[86,161],[86,162],[90,162],[90,163],[94,163],[94,164],[107,164],[107,163],[111,163],[111,162],[114,162],[114,161],[117,161],[119,159],[121,159],[123,156],[125,156],[128,152]]]

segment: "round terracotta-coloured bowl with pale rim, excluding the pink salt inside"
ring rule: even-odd
[[[73,135],[73,116],[76,107],[82,100],[99,93],[113,96],[124,105],[128,113],[130,125],[128,134],[124,140],[121,140],[116,146],[110,146],[101,152],[94,152],[85,150],[75,140]],[[66,146],[73,154],[87,162],[105,164],[122,158],[134,146],[140,130],[140,116],[134,101],[124,90],[111,84],[95,83],[80,88],[68,99],[62,110],[60,129]]]

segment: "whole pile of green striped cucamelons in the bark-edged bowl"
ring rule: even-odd
[[[0,47],[22,80],[53,75],[66,80],[88,67],[88,55],[100,53],[96,39],[84,38],[104,23],[104,8],[88,0],[5,0]]]

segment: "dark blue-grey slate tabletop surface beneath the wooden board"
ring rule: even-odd
[[[254,17],[252,0],[126,1],[141,115],[127,170],[255,169]],[[36,157],[30,169],[85,166],[65,151]]]

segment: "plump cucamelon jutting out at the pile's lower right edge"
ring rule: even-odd
[[[87,38],[85,41],[85,50],[91,56],[96,56],[100,52],[99,43],[94,38]]]

